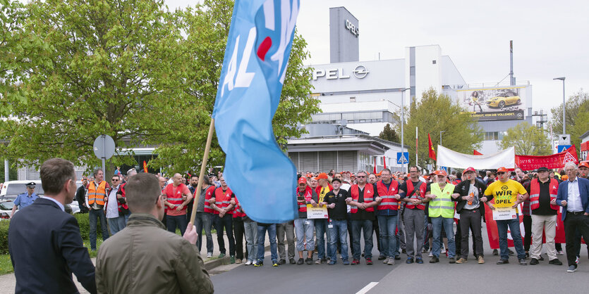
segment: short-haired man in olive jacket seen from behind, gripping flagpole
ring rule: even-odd
[[[183,237],[166,231],[164,200],[157,177],[136,174],[126,184],[132,214],[127,226],[99,248],[98,293],[213,293],[188,224]]]

